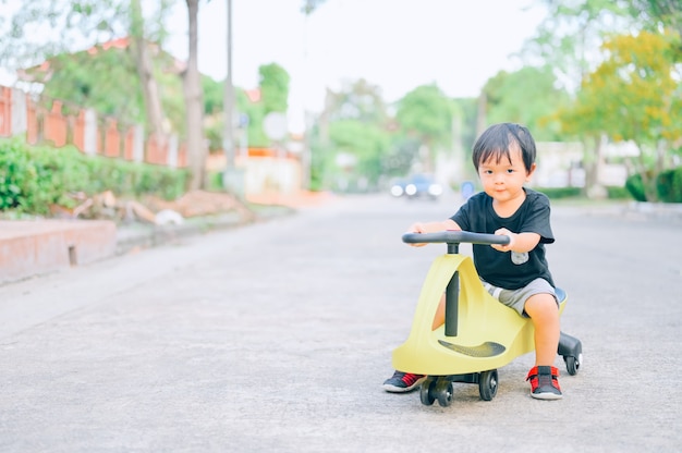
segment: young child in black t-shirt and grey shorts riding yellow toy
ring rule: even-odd
[[[526,377],[531,396],[558,400],[562,397],[559,370],[552,364],[559,345],[559,303],[545,259],[545,244],[555,242],[549,199],[524,187],[535,171],[535,140],[526,127],[511,123],[488,127],[473,149],[484,192],[468,198],[450,219],[415,223],[409,232],[464,230],[510,237],[508,245],[473,245],[474,265],[486,290],[521,316],[529,317],[535,327],[535,366]],[[444,298],[434,329],[443,322]],[[424,379],[395,371],[383,382],[383,389],[406,392]]]

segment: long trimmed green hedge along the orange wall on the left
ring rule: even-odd
[[[73,207],[69,195],[156,195],[174,199],[185,193],[186,170],[86,156],[74,147],[29,147],[0,140],[0,210],[46,215],[50,205]]]

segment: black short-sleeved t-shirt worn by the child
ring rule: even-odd
[[[540,242],[527,254],[498,252],[489,245],[473,245],[474,265],[486,282],[507,290],[524,287],[543,278],[555,283],[545,258],[545,244],[555,242],[549,223],[549,199],[545,194],[524,188],[526,199],[511,217],[499,217],[492,209],[492,198],[480,192],[451,217],[463,231],[494,234],[506,228],[512,233],[537,233]]]

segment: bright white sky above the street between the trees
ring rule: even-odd
[[[224,81],[227,0],[199,3],[199,71]],[[277,63],[291,76],[290,124],[319,112],[326,88],[360,78],[393,102],[424,84],[450,97],[476,97],[535,35],[545,10],[537,0],[327,0],[313,14],[303,0],[232,0],[232,81],[258,86],[258,66]],[[187,14],[179,2],[167,50],[187,54]]]

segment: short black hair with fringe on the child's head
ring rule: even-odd
[[[535,140],[526,127],[514,123],[494,124],[480,134],[472,152],[476,171],[478,171],[480,162],[485,162],[491,157],[495,157],[498,163],[503,157],[511,162],[509,147],[514,143],[521,149],[526,171],[531,171],[533,163],[535,163]]]

